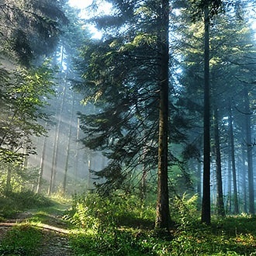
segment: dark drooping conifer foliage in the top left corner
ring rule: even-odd
[[[49,54],[57,44],[60,26],[67,23],[64,1],[5,0],[0,8],[1,55],[29,66],[34,57]]]

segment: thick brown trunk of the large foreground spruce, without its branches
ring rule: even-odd
[[[168,94],[169,94],[169,1],[161,0],[160,109],[157,170],[157,210],[155,227],[168,230],[171,225],[168,195]]]

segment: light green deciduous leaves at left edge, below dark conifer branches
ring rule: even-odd
[[[23,161],[26,154],[34,152],[31,137],[46,133],[39,120],[47,119],[43,107],[54,93],[53,74],[54,69],[47,62],[8,73],[2,89],[5,106],[0,119],[0,161]]]

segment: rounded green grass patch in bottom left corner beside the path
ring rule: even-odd
[[[19,224],[7,231],[0,245],[1,255],[40,255],[42,234],[29,223]]]

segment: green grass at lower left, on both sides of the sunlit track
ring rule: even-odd
[[[17,213],[29,210],[22,223],[8,227],[2,235],[0,255],[41,255],[45,246],[42,229],[39,223],[54,227],[71,227],[70,223],[62,220],[67,207],[67,201],[57,197],[52,199],[36,195],[33,192],[18,192],[0,198],[2,221],[8,218],[15,219]],[[36,227],[38,225],[38,227]],[[52,235],[52,233],[49,233]]]

